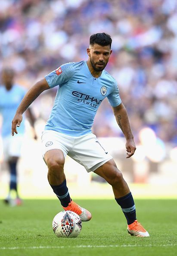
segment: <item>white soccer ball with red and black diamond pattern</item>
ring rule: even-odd
[[[82,222],[77,213],[62,211],[55,215],[52,227],[57,237],[77,237],[81,232]]]

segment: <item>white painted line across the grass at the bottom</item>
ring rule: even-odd
[[[0,250],[28,250],[28,249],[67,249],[67,248],[109,248],[109,247],[170,247],[177,244],[122,244],[122,245],[76,245],[76,246],[34,246],[34,247],[0,247]]]

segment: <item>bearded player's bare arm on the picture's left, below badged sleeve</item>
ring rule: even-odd
[[[14,116],[12,120],[12,136],[14,135],[14,132],[18,134],[17,127],[20,126],[22,122],[22,115],[25,112],[26,109],[28,109],[28,106],[31,105],[31,103],[43,92],[50,89],[49,84],[47,83],[46,79],[43,78],[42,80],[38,81],[34,86],[32,86],[29,91],[25,94],[22,102],[20,103],[16,115]]]

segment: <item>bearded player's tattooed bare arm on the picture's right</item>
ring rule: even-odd
[[[127,111],[126,111],[123,103],[121,103],[118,106],[112,107],[112,109],[113,109],[113,112],[115,115],[115,119],[118,123],[118,126],[121,128],[121,131],[123,132],[123,134],[127,140],[126,145],[125,145],[125,147],[127,149],[127,157],[126,158],[129,158],[134,155],[136,146],[134,143],[134,136],[133,136],[131,128],[130,128]]]

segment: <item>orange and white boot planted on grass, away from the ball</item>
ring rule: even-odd
[[[148,231],[146,231],[146,229],[144,229],[141,223],[137,220],[127,226],[127,231],[131,236],[149,237]]]

